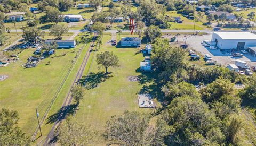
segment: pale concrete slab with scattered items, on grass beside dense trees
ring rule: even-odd
[[[153,98],[149,94],[142,94],[138,96],[140,108],[155,108]]]

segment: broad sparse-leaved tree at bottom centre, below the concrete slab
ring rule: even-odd
[[[150,125],[150,119],[148,114],[126,110],[107,121],[105,138],[117,145],[163,145],[168,128],[161,120],[155,126]]]

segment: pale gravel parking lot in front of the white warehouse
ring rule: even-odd
[[[185,42],[185,38],[189,36],[179,36],[178,42]],[[202,36],[191,36],[187,38],[186,44],[189,45],[191,48],[194,50],[200,52],[201,54],[209,54],[212,56],[213,60],[217,61],[217,63],[222,64],[222,65],[228,65],[228,64],[234,64],[237,59],[240,59],[242,61],[246,61],[250,66],[255,66],[256,65],[256,57],[254,58],[250,54],[243,54],[244,56],[241,58],[234,58],[230,56],[230,53],[220,51],[219,49],[217,50],[211,50],[209,47],[204,47],[201,42],[203,40],[211,40],[212,33],[209,35],[202,35]],[[180,43],[179,43],[180,44]]]

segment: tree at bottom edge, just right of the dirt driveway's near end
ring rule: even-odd
[[[57,133],[61,145],[93,145],[99,137],[97,132],[72,117],[68,117],[61,123]]]

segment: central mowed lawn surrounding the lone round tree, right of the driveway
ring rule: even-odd
[[[126,36],[134,37],[136,35],[121,35],[121,37]],[[94,56],[91,70],[89,70],[90,78],[85,82],[85,97],[79,105],[76,114],[76,118],[79,121],[91,125],[99,133],[105,130],[106,121],[111,116],[122,114],[124,110],[153,111],[153,109],[139,108],[137,97],[143,85],[139,82],[128,80],[129,76],[141,75],[137,71],[139,71],[140,62],[144,58],[141,53],[136,54],[140,49],[116,48],[106,44],[106,39],[111,40],[111,36],[104,35],[103,38],[103,44],[105,45],[96,54],[107,50],[113,51],[119,58],[119,67],[110,67],[109,72],[111,73],[105,75],[104,68],[98,70]],[[84,75],[87,75],[87,73],[85,72]]]

